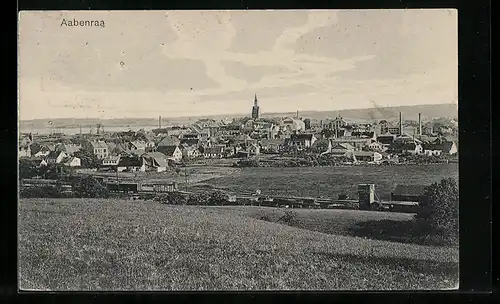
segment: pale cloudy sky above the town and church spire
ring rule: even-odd
[[[21,12],[20,119],[456,103],[457,43],[456,10]]]

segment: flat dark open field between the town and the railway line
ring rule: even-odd
[[[357,185],[375,184],[381,199],[389,199],[397,184],[424,184],[458,177],[458,164],[408,166],[345,166],[301,168],[242,168],[231,176],[204,181],[214,188],[235,192],[357,198]]]

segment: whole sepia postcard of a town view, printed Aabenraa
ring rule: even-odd
[[[457,290],[457,22],[21,11],[19,289]]]

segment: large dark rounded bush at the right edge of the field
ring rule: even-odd
[[[437,234],[455,241],[458,238],[458,181],[442,179],[428,186],[423,194],[420,220],[428,221]]]

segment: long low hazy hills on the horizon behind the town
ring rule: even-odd
[[[418,113],[422,114],[422,119],[428,120],[438,117],[457,118],[458,106],[456,104],[434,104],[434,105],[416,105],[416,106],[400,106],[400,107],[381,107],[369,109],[348,109],[338,111],[304,111],[299,112],[300,117],[310,119],[325,119],[328,117],[336,117],[338,115],[352,120],[373,121],[373,120],[395,120],[399,118],[399,112],[403,113],[405,120],[417,120]],[[162,126],[171,124],[189,124],[200,118],[213,118],[220,120],[223,118],[243,117],[249,114],[228,114],[216,116],[193,116],[193,117],[165,117],[162,118]],[[270,116],[295,116],[296,112],[284,113],[263,113],[263,117]],[[52,121],[55,127],[64,128],[82,128],[95,127],[97,124],[102,124],[104,127],[129,127],[137,128],[143,126],[158,126],[158,118],[120,118],[120,119],[98,119],[98,118],[57,118],[57,119],[34,119],[20,121],[21,130],[36,130],[49,128],[49,121]]]

